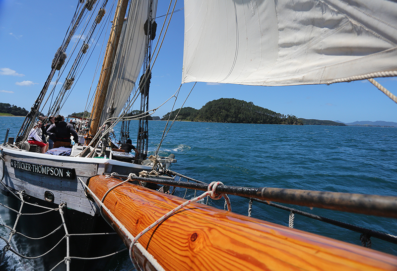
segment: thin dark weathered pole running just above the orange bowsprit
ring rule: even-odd
[[[167,170],[166,173],[188,178],[172,170]],[[115,176],[118,177],[122,175]],[[128,176],[125,175],[124,177],[127,178]],[[202,182],[195,183],[136,176],[133,176],[132,180],[201,191],[207,191],[208,188],[208,185]],[[255,198],[262,201],[275,201],[278,203],[296,204],[300,206],[330,209],[341,212],[397,218],[397,197],[395,196],[230,185],[218,185],[216,191],[228,195]]]

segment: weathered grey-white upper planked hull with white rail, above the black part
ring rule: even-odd
[[[54,156],[0,146],[4,162],[0,162],[2,182],[15,191],[23,190],[30,197],[46,200],[51,192],[53,203],[66,203],[67,208],[94,216],[99,210],[84,193],[79,181],[103,173],[137,173],[150,166],[110,159]],[[4,169],[3,169],[4,167]],[[4,176],[2,176],[4,175]],[[48,193],[48,192],[47,192]]]

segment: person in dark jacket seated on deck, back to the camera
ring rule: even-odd
[[[58,147],[69,147],[70,148],[70,136],[73,135],[73,141],[78,144],[78,135],[73,128],[73,125],[65,122],[65,118],[62,115],[55,117],[55,123],[50,126],[47,130],[47,134],[51,140],[54,141],[54,148]]]

